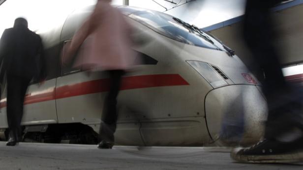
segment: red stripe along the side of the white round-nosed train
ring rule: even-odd
[[[121,90],[189,85],[179,74],[155,74],[123,77]],[[56,88],[55,91],[31,95],[27,94],[24,104],[37,103],[42,101],[81,96],[93,93],[106,92],[109,90],[109,79],[99,79],[81,82],[73,85],[66,85]],[[0,102],[0,108],[6,107],[6,101]]]

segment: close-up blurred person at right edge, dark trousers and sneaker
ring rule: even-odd
[[[243,163],[291,163],[303,161],[302,92],[285,82],[273,46],[275,33],[270,8],[282,0],[246,0],[243,36],[254,56],[250,65],[259,72],[269,114],[264,139],[248,148],[232,150],[231,157]],[[302,88],[302,87],[301,87]]]

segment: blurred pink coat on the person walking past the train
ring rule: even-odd
[[[127,70],[135,61],[131,28],[121,12],[109,2],[98,0],[88,20],[75,33],[70,49],[80,54],[74,67],[85,70]]]

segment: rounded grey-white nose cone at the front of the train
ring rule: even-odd
[[[250,145],[264,134],[267,104],[259,86],[214,89],[205,98],[208,130],[215,145]]]

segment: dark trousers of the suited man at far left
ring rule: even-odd
[[[7,123],[9,132],[20,139],[21,121],[23,116],[24,97],[30,79],[20,76],[7,75]]]

